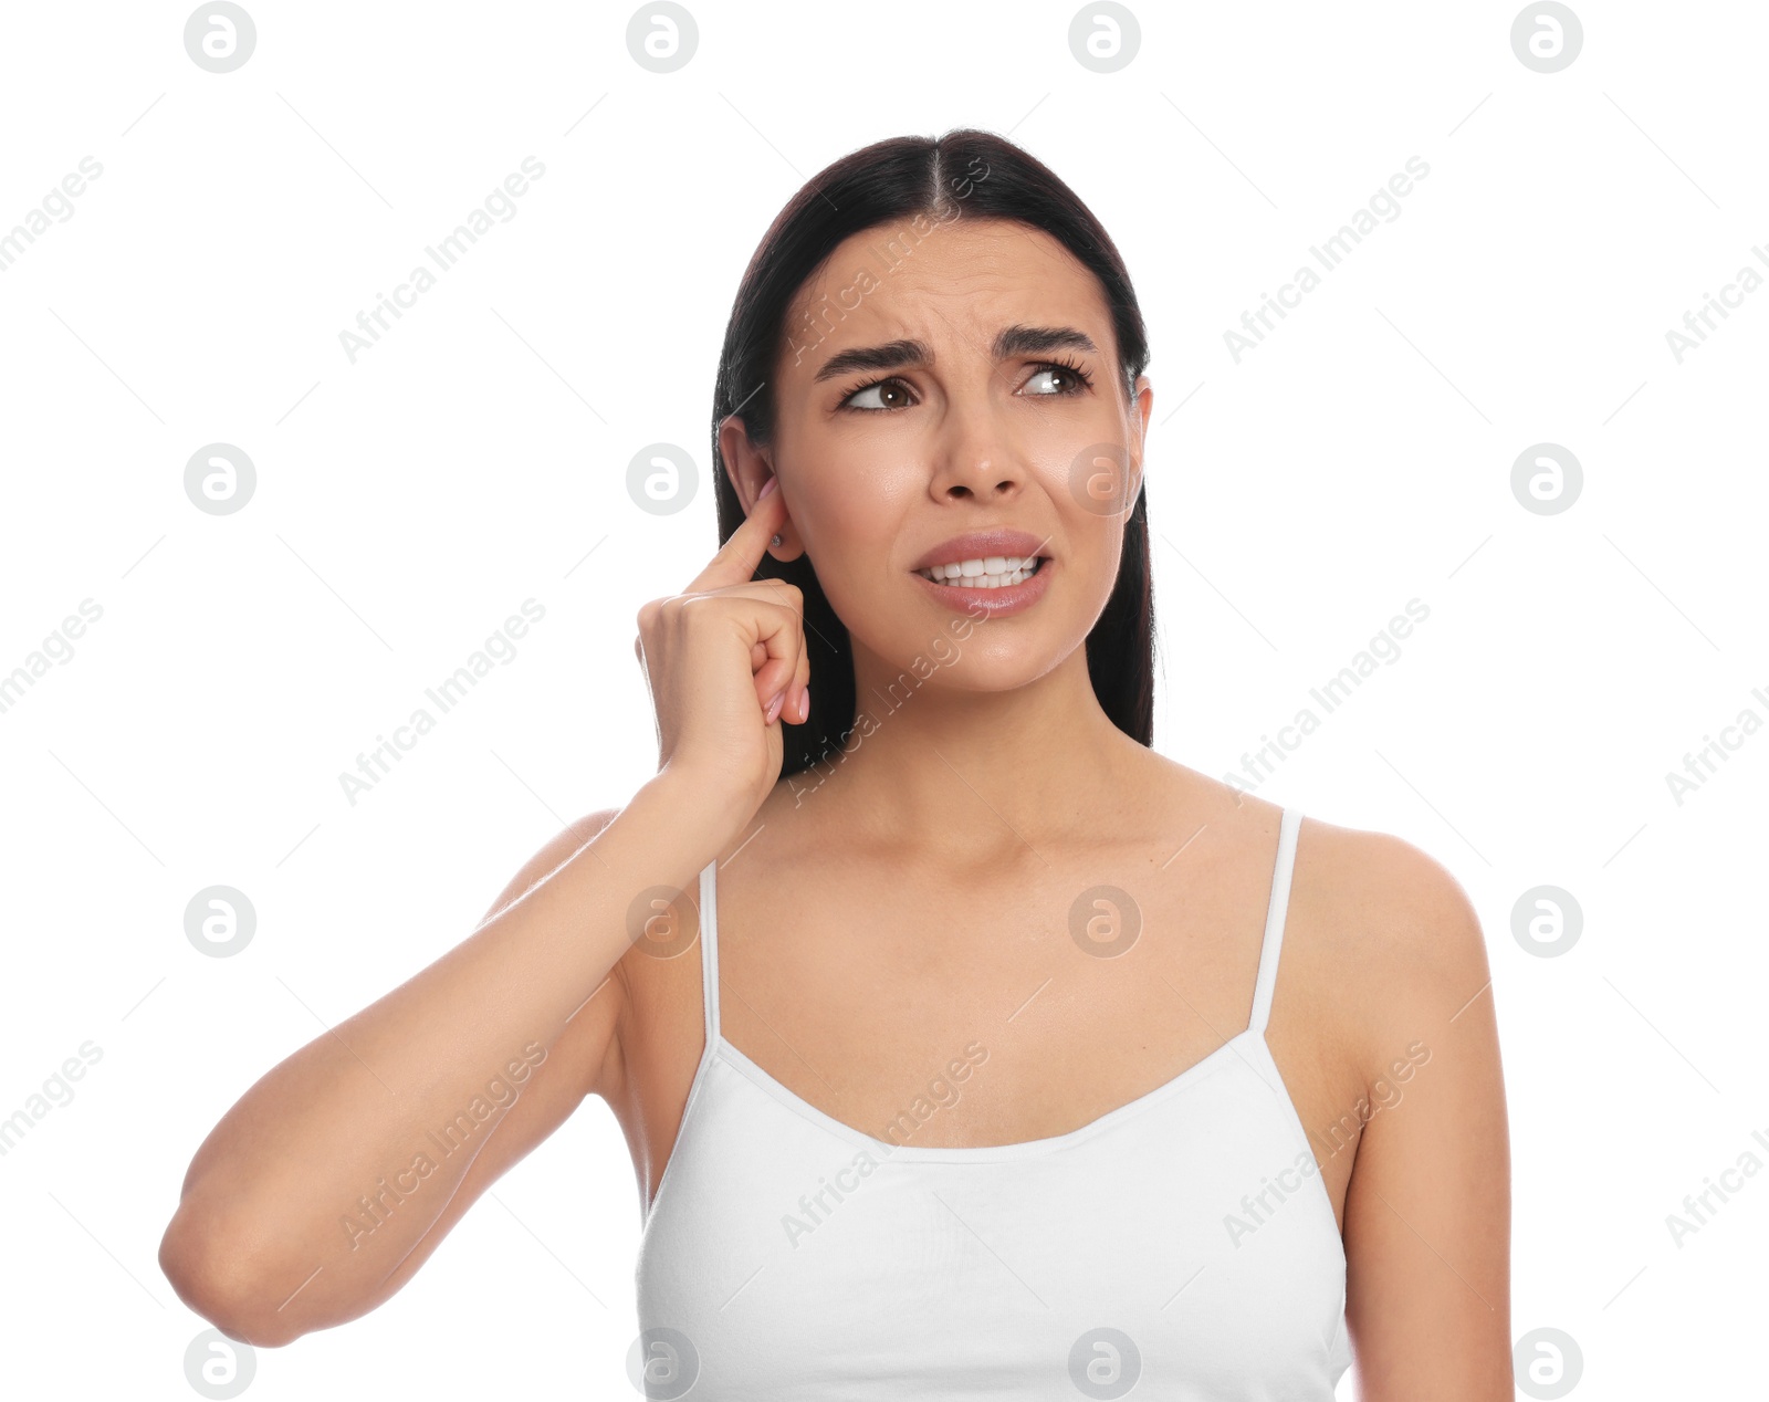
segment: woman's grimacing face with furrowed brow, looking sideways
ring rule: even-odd
[[[747,506],[770,466],[780,478],[791,519],[773,554],[810,556],[860,683],[927,659],[939,674],[922,680],[994,690],[1083,648],[1152,405],[1146,377],[1127,398],[1093,274],[1028,225],[906,220],[839,244],[785,331],[773,444],[755,453],[732,420],[725,458]],[[1026,538],[952,545],[989,529]],[[916,574],[930,556],[1031,554],[1019,586]]]

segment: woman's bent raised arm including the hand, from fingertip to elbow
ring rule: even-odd
[[[658,774],[633,802],[555,837],[478,929],[274,1066],[203,1140],[159,1264],[223,1333],[278,1345],[366,1313],[598,1089],[619,1011],[598,993],[755,814],[778,717],[807,712],[801,598],[752,581],[784,519],[757,492],[688,588],[640,609]]]

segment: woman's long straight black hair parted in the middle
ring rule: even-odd
[[[743,503],[725,469],[718,430],[736,414],[757,446],[775,427],[773,375],[785,349],[785,317],[805,281],[853,234],[922,216],[939,223],[969,216],[1014,220],[1063,244],[1095,278],[1111,310],[1118,370],[1130,397],[1148,365],[1148,333],[1116,246],[1093,212],[1047,166],[1003,136],[971,127],[945,136],[893,136],[854,150],[805,182],[757,244],[738,285],[718,356],[713,393],[713,490],[718,540],[743,524]],[[1145,474],[1146,476],[1146,474]],[[1111,598],[1088,632],[1088,678],[1100,710],[1125,735],[1153,743],[1155,604],[1148,570],[1148,494],[1125,519]],[[810,558],[764,554],[754,579],[784,579],[805,598],[810,651],[810,715],[782,722],[780,777],[844,749],[854,728],[854,653]]]

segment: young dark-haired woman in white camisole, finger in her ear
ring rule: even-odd
[[[656,777],[228,1112],[180,1296],[354,1319],[596,1094],[651,1397],[1509,1398],[1479,924],[1152,749],[1146,359],[1010,142],[810,181],[725,335],[724,545],[639,614]]]

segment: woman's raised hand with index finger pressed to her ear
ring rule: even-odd
[[[658,774],[724,797],[741,828],[780,777],[784,715],[810,715],[805,600],[780,579],[752,581],[787,517],[768,478],[748,519],[679,595],[639,611],[633,651],[656,710]]]

